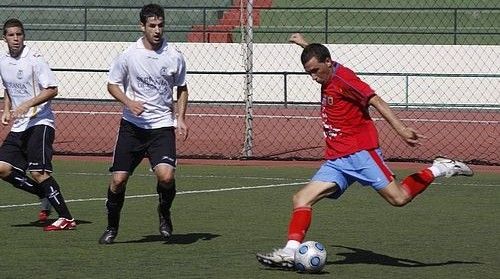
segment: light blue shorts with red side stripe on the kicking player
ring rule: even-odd
[[[379,191],[393,180],[394,175],[384,163],[380,148],[362,150],[349,156],[328,160],[311,179],[337,184],[339,190],[330,196],[334,199],[339,198],[354,182]]]

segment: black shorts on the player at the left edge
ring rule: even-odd
[[[52,172],[54,128],[36,125],[24,132],[9,132],[0,146],[0,161],[20,171]]]

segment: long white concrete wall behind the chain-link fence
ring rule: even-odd
[[[107,70],[113,58],[130,43],[27,42],[40,50],[57,71],[60,98],[110,99],[106,73],[70,69]],[[188,71],[242,72],[244,49],[239,44],[177,43],[186,56]],[[367,81],[391,103],[500,104],[500,46],[439,45],[328,45],[334,60],[358,73],[473,74],[474,77],[367,75]],[[2,44],[5,51],[5,43]],[[254,72],[299,72],[301,48],[291,44],[255,44]],[[495,77],[481,77],[492,75]],[[477,76],[479,75],[479,76]],[[190,74],[190,99],[242,101],[244,76]],[[282,101],[284,76],[254,77],[255,101]],[[319,85],[310,77],[290,74],[289,101],[317,102]],[[408,96],[406,94],[408,93]]]

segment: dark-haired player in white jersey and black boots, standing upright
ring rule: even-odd
[[[124,107],[110,168],[108,226],[99,239],[101,244],[113,243],[118,234],[128,178],[144,157],[157,178],[160,234],[168,239],[173,230],[170,208],[176,193],[175,131],[184,140],[188,135],[184,121],[188,101],[186,64],[183,55],[163,37],[163,8],[145,5],[139,17],[143,36],[115,59],[109,71],[108,92]]]

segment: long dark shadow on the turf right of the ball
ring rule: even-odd
[[[345,259],[338,261],[328,261],[327,264],[378,264],[397,267],[429,267],[429,266],[444,266],[450,264],[482,264],[480,262],[465,262],[465,261],[446,261],[438,263],[424,263],[410,259],[395,258],[388,255],[378,254],[370,250],[360,248],[347,247],[342,245],[332,245],[336,248],[349,249],[352,252],[337,253],[338,256],[343,256]]]

